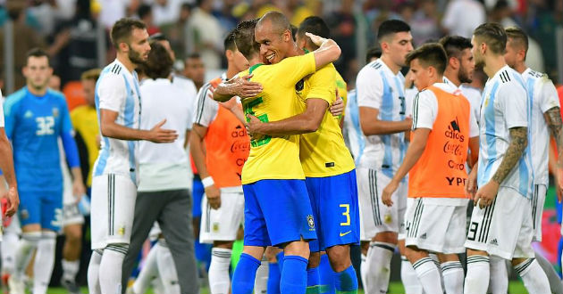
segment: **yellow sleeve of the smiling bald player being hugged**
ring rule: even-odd
[[[336,99],[336,69],[332,64],[324,66],[309,77],[311,89],[305,99],[316,98],[323,99],[332,105]]]

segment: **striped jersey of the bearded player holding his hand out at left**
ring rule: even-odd
[[[102,70],[96,83],[98,122],[100,121],[100,109],[117,112],[116,124],[139,128],[140,102],[137,74],[131,73],[117,60]],[[119,140],[101,135],[101,149],[93,176],[120,174],[130,176],[133,183],[136,183],[137,146],[136,141]]]

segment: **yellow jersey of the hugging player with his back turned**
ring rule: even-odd
[[[315,72],[315,55],[286,58],[272,65],[256,64],[239,73],[254,76],[252,81],[262,84],[263,91],[256,97],[245,99],[245,114],[252,114],[261,121],[276,121],[297,115],[295,85],[301,78]],[[265,179],[304,179],[299,161],[299,136],[269,135],[250,141],[248,160],[242,167],[242,184]]]

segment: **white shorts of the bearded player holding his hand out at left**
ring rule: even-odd
[[[92,249],[130,243],[136,200],[137,185],[129,176],[107,174],[92,179]]]

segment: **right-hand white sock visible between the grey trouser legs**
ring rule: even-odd
[[[155,247],[157,247],[156,265],[158,265],[158,274],[163,282],[164,293],[180,294],[180,284],[178,283],[178,274],[176,273],[172,252],[168,249],[164,239],[159,240]]]

